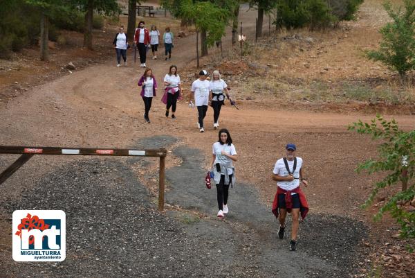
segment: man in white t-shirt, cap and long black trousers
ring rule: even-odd
[[[205,119],[206,112],[208,111],[209,103],[209,87],[210,82],[206,80],[209,73],[204,69],[199,72],[199,78],[192,83],[192,93],[194,94],[194,105],[197,107],[199,113],[198,128],[200,132],[204,132],[203,119]]]

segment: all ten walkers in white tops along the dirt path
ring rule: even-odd
[[[145,64],[146,52],[147,47],[151,45],[153,59],[157,59],[159,37],[160,33],[156,26],[151,26],[151,30],[149,31],[144,27],[144,21],[140,21],[136,29],[136,34],[134,35],[134,44],[136,44],[140,53],[140,67],[146,68],[144,74],[138,80],[138,86],[141,87],[140,96],[142,96],[142,101],[145,106],[144,119],[146,123],[150,123],[149,112],[151,110],[151,103],[158,90],[154,73]],[[163,35],[163,42],[165,44],[165,60],[169,60],[173,45],[173,33],[170,32],[169,28],[166,28],[166,32]],[[120,66],[121,57],[124,60],[124,65],[127,65],[126,51],[129,48],[129,44],[122,26],[113,44],[116,47],[117,66]],[[208,71],[203,69],[199,72],[199,78],[192,82],[191,92],[194,105],[197,107],[197,125],[199,132],[205,131],[203,120],[205,119],[209,106],[213,108],[213,128],[216,130],[219,128],[219,115],[225,97],[233,104],[228,92],[228,85],[221,78],[221,73],[217,70],[213,71],[212,79],[209,79]],[[164,92],[161,101],[166,105],[165,116],[171,116],[172,119],[176,119],[177,101],[183,95],[181,78],[178,75],[176,65],[173,64],[169,67],[169,71],[163,78],[163,85]],[[190,104],[192,105],[192,101]],[[304,219],[308,213],[307,201],[300,188],[300,184],[307,186],[308,182],[304,177],[302,158],[295,157],[296,150],[297,147],[295,144],[286,145],[286,155],[277,160],[272,175],[272,179],[277,182],[277,193],[275,193],[272,211],[279,221],[277,234],[280,239],[283,239],[285,236],[287,213],[291,213],[293,218],[290,250],[297,250],[299,217]],[[223,128],[219,130],[218,141],[212,146],[212,161],[210,162],[210,171],[206,177],[207,185],[209,182],[210,186],[210,178],[216,184],[216,199],[219,209],[216,216],[218,218],[224,218],[230,211],[228,207],[229,187],[235,184],[234,162],[236,161],[237,151],[232,143],[230,132]]]

